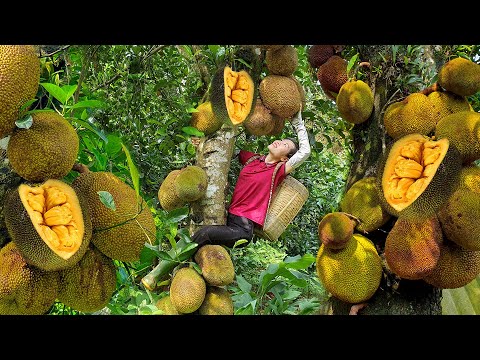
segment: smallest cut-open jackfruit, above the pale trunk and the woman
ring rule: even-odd
[[[233,71],[228,66],[219,68],[211,83],[214,115],[223,123],[241,124],[255,106],[255,93],[255,84],[247,71]]]

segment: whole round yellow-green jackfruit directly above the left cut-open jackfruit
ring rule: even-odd
[[[61,179],[77,160],[80,140],[75,128],[56,112],[32,115],[29,129],[15,129],[7,156],[15,171],[29,181]]]

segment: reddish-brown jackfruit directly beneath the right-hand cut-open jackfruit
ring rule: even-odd
[[[398,219],[385,241],[385,260],[399,277],[419,280],[437,265],[442,241],[436,216],[421,222]]]

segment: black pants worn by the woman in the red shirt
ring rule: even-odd
[[[192,240],[199,245],[198,248],[206,244],[233,247],[237,240],[252,240],[253,226],[252,220],[228,213],[226,225],[205,225],[193,234]],[[237,247],[247,244],[244,243]]]

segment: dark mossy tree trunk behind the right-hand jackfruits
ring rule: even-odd
[[[425,47],[424,54],[431,54],[431,49]],[[390,46],[361,46],[359,54],[362,61],[368,61],[370,68],[380,68],[381,72],[375,74],[370,71],[369,85],[374,93],[374,111],[371,118],[361,125],[356,125],[353,130],[354,161],[347,180],[346,189],[366,176],[377,175],[377,161],[384,153],[386,146],[392,139],[386,134],[383,127],[383,114],[386,107],[406,96],[401,89],[396,89],[393,84],[402,69],[392,64]],[[380,56],[380,54],[383,55]],[[387,62],[385,62],[387,59]],[[435,66],[435,61],[430,57],[427,63]],[[423,89],[418,89],[421,91]],[[380,287],[368,301],[368,305],[359,311],[361,315],[440,315],[441,296],[440,289],[435,288],[422,280],[411,281],[400,279],[392,274],[385,266],[383,257],[384,244],[388,232],[396,218],[392,218],[381,229],[371,232],[367,237],[375,243],[383,260],[383,277]],[[348,314],[352,304],[344,303],[332,298],[333,314]]]

